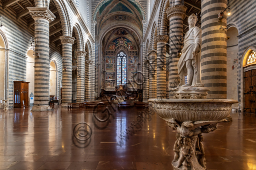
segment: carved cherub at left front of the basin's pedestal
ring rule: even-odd
[[[191,139],[189,137],[185,137],[183,139],[183,144],[180,149],[180,155],[178,159],[177,168],[181,165],[182,170],[187,170],[188,164],[190,165],[191,170],[194,170],[193,163],[191,161],[191,157],[193,155],[193,147],[191,145]]]

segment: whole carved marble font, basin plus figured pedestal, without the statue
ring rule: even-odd
[[[149,107],[177,132],[174,170],[206,170],[202,133],[213,132],[231,112],[229,99],[149,99]]]

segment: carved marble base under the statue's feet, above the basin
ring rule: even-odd
[[[207,87],[181,86],[170,88],[173,99],[206,99]]]

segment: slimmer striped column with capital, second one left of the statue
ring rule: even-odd
[[[166,43],[168,35],[157,35],[157,76],[156,76],[156,97],[158,100],[166,98]]]

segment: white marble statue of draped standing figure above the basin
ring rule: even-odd
[[[195,26],[197,17],[191,14],[188,17],[189,30],[184,37],[184,47],[178,60],[179,86],[203,87],[200,80],[199,64],[201,51],[201,29]],[[184,75],[187,75],[187,84],[184,83]]]

